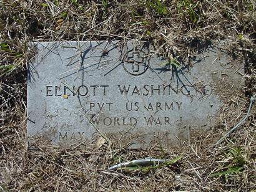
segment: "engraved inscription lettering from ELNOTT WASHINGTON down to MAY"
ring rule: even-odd
[[[207,85],[207,90],[210,90],[210,85]],[[116,93],[117,97],[130,97],[135,98],[136,101],[123,102],[122,105],[117,104],[114,100],[112,102],[104,102],[93,100],[93,97],[100,96],[104,98],[109,93]],[[79,85],[79,86],[68,86],[68,85],[46,85],[46,97],[60,97],[64,94],[68,97],[90,97],[92,101],[84,103],[85,110],[92,114],[90,122],[99,127],[135,127],[138,122],[143,123],[147,127],[151,126],[172,126],[175,122],[168,115],[172,115],[172,112],[179,112],[184,110],[182,102],[179,100],[172,99],[173,94],[182,94],[185,97],[194,97],[198,94],[204,94],[204,92],[198,92],[192,85],[182,85],[182,87],[172,87],[172,85]],[[202,95],[201,94],[201,95]],[[207,94],[204,94],[207,95]],[[164,97],[167,100],[160,100],[158,102],[149,102],[143,98]],[[114,98],[113,98],[114,99]],[[127,112],[126,117],[112,117],[111,113],[108,115],[101,116],[101,112],[112,112],[113,108],[120,107],[124,108]],[[146,110],[151,115],[145,115],[144,117],[129,117],[129,112],[141,112]],[[159,116],[157,112],[169,112],[167,116]],[[180,117],[179,122],[182,122]],[[82,137],[84,132],[78,133],[67,133],[59,132],[59,140],[75,140],[76,138]]]

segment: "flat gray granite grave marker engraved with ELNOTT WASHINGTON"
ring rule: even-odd
[[[38,140],[72,145],[99,135],[135,148],[179,144],[189,130],[215,124],[222,75],[231,75],[235,85],[243,78],[243,66],[231,69],[217,47],[205,50],[190,68],[168,64],[145,42],[39,42],[35,47],[27,76],[29,145]]]

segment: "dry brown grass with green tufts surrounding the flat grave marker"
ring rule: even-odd
[[[0,0],[0,191],[253,191],[255,106],[249,119],[220,145],[218,138],[247,112],[256,91],[255,1],[12,1]],[[64,150],[47,143],[26,148],[26,64],[31,41],[143,39],[159,54],[192,59],[202,42],[229,39],[245,60],[244,93],[227,97],[223,123],[179,148],[127,150],[118,145]],[[200,43],[199,43],[200,42]],[[235,113],[232,108],[240,108]],[[240,116],[239,116],[240,115]],[[107,171],[119,160],[182,158],[147,171]],[[233,169],[232,173],[225,173]],[[238,170],[235,172],[234,170]]]

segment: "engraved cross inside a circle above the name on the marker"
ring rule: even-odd
[[[122,63],[124,70],[130,75],[142,75],[149,69],[149,58],[142,50],[130,51]]]

